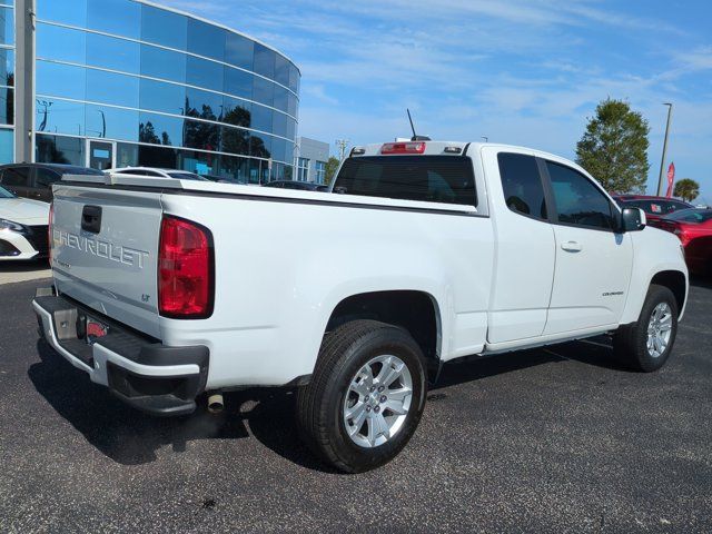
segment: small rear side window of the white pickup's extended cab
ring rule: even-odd
[[[497,160],[507,207],[518,214],[545,219],[544,186],[536,159],[524,154],[503,152],[497,156]]]

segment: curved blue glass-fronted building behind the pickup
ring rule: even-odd
[[[13,12],[31,1],[0,0],[0,159],[13,152],[13,72],[32,71],[16,48],[31,46],[36,161],[293,177],[300,75],[288,58],[144,0],[34,0],[32,39],[16,43]]]

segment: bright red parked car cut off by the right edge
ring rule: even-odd
[[[681,209],[649,222],[680,238],[691,273],[712,275],[712,209]]]

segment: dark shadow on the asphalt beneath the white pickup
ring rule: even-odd
[[[524,369],[551,362],[574,359],[590,365],[619,369],[611,348],[591,342],[567,343],[547,349],[533,349],[481,357],[467,363],[448,364],[431,392],[465,382]],[[263,445],[303,467],[335,473],[319,462],[299,439],[295,423],[294,390],[259,388],[225,394],[226,409],[219,415],[205,411],[205,399],[195,414],[160,418],[126,406],[109,392],[91,383],[43,339],[38,340],[41,362],[28,375],[47,402],[107,457],[123,465],[140,465],[157,459],[156,452],[171,445],[175,453],[187,442],[249,437],[246,423]]]

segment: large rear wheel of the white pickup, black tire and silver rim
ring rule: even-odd
[[[405,447],[421,421],[427,393],[424,362],[413,337],[385,323],[353,320],[327,334],[312,382],[297,393],[303,439],[346,473],[386,464]],[[382,375],[386,370],[389,376]],[[386,385],[394,374],[397,378]],[[357,415],[348,418],[347,409]],[[384,423],[387,432],[379,432]]]

